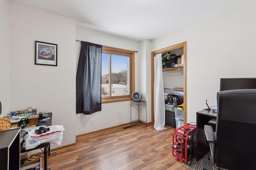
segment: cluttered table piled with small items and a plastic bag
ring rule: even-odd
[[[24,160],[20,161],[20,167],[24,169],[31,166],[32,162],[28,162],[31,151],[44,148],[42,150],[44,170],[49,170],[50,168],[47,168],[47,153],[50,155],[50,144],[61,145],[65,130],[63,125],[52,125],[52,113],[37,113],[36,109],[29,108],[28,110],[10,112],[10,115],[1,115],[0,117],[10,122],[8,125],[10,130],[20,129],[20,155],[24,156]],[[38,159],[41,160],[40,154]]]

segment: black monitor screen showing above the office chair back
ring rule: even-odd
[[[256,88],[256,78],[220,78],[220,91]]]

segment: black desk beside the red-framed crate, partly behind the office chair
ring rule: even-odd
[[[209,150],[209,146],[205,144],[204,125],[211,125],[215,130],[216,125],[209,123],[213,118],[217,117],[217,113],[212,110],[201,110],[196,112],[196,161]]]

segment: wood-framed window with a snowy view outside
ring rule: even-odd
[[[134,51],[102,47],[102,103],[132,100]]]

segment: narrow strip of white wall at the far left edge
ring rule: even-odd
[[[0,102],[2,115],[9,112],[9,3],[0,1]]]

